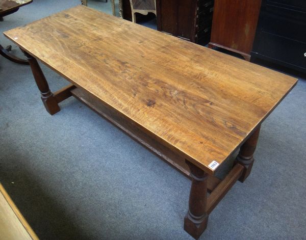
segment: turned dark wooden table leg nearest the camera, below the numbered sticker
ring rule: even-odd
[[[191,171],[192,183],[189,195],[189,210],[184,220],[184,230],[195,239],[199,238],[207,227],[207,180],[208,174],[186,161]]]

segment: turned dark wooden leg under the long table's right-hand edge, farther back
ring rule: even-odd
[[[240,147],[238,156],[236,157],[236,163],[241,164],[244,167],[239,181],[244,182],[251,172],[254,163],[254,151],[257,146],[257,141],[259,137],[260,126],[252,133],[252,135],[245,141],[245,143]]]

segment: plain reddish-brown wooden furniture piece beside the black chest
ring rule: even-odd
[[[261,0],[215,0],[209,47],[237,52],[250,61],[260,6]]]

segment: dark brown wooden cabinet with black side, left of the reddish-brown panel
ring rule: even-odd
[[[213,0],[157,0],[156,5],[159,31],[195,43],[209,42]]]

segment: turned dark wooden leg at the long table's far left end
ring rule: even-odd
[[[51,115],[59,112],[60,107],[58,102],[53,93],[50,91],[46,78],[38,65],[37,60],[28,54],[28,52],[23,51],[23,53],[30,63],[36,85],[41,93],[41,100],[47,112]]]

